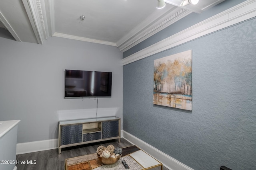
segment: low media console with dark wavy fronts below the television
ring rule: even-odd
[[[120,143],[120,124],[115,116],[59,121],[58,153],[62,148],[111,139]]]

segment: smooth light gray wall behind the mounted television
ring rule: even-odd
[[[96,115],[94,98],[64,99],[65,69],[112,72],[112,97],[99,98],[98,109],[119,108],[122,118],[118,48],[59,37],[44,45],[5,37],[0,33],[0,120],[21,120],[17,143],[58,138],[58,111],[95,108]]]

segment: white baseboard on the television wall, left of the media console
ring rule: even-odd
[[[16,154],[24,154],[24,153],[50,150],[50,149],[56,149],[56,148],[58,148],[58,139],[17,143]]]

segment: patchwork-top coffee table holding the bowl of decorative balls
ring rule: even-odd
[[[126,170],[122,164],[122,160],[125,160],[128,166],[130,166],[128,170],[148,170],[158,166],[161,166],[161,170],[163,170],[163,164],[161,162],[135,145],[124,147],[122,150],[122,157],[115,164],[102,164],[98,160],[97,154],[94,153],[66,159],[66,170]]]

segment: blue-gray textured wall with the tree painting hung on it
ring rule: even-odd
[[[193,110],[153,105],[154,59],[192,50]],[[195,170],[256,169],[256,18],[123,67],[123,129]]]

